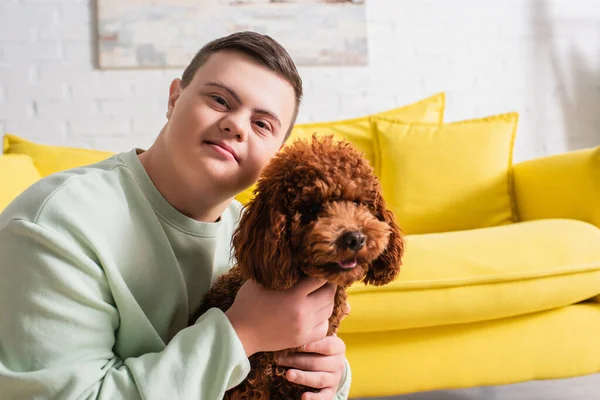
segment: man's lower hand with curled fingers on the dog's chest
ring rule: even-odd
[[[344,342],[334,335],[307,344],[304,353],[281,356],[277,363],[295,368],[287,371],[289,381],[321,389],[318,393],[304,393],[302,400],[331,400],[344,373],[345,355]]]

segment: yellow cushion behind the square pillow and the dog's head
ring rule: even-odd
[[[294,126],[287,143],[296,139],[307,139],[313,133],[318,135],[333,135],[336,139],[346,139],[358,150],[362,151],[367,161],[378,169],[375,135],[371,126],[373,116],[391,117],[409,122],[442,123],[444,120],[445,94],[437,93],[416,103],[384,111],[374,115],[339,121],[298,124]],[[252,191],[256,185],[246,189],[236,199],[242,204],[248,203],[254,197]]]

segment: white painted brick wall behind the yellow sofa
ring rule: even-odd
[[[366,3],[369,65],[301,68],[299,122],[446,91],[447,121],[520,112],[517,160],[600,144],[600,0]],[[181,70],[94,69],[93,4],[0,0],[1,132],[113,151],[151,143]]]

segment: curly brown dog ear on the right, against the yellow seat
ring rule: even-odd
[[[392,282],[400,272],[402,255],[404,254],[404,240],[402,232],[394,220],[394,214],[387,209],[381,193],[375,200],[375,215],[390,227],[390,236],[386,249],[373,261],[363,282],[367,285],[381,286]]]

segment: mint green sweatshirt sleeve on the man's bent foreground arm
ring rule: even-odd
[[[221,399],[250,365],[217,309],[160,352],[116,354],[119,311],[93,254],[31,222],[0,227],[3,398]]]

